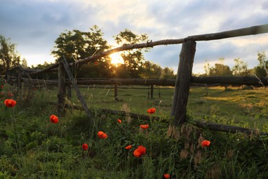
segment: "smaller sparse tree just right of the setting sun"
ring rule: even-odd
[[[125,29],[118,35],[114,36],[118,45],[142,43],[148,41],[147,34],[134,34],[131,30]],[[148,49],[145,50],[147,52]],[[133,78],[140,77],[139,70],[142,67],[142,63],[145,61],[143,55],[144,49],[126,50],[122,52],[122,58],[124,60],[124,67],[129,71],[129,74]]]

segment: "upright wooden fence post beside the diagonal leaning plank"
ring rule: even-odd
[[[63,63],[58,66],[58,115],[63,116],[65,114],[65,68]]]

